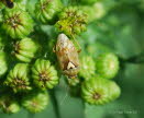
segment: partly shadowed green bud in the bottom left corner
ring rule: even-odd
[[[11,96],[0,97],[0,108],[5,114],[15,114],[20,111],[19,103],[15,99],[13,99]]]

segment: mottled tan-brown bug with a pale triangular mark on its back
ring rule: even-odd
[[[58,35],[55,52],[64,74],[76,78],[79,72],[78,51],[65,34]]]

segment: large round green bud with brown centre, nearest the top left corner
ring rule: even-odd
[[[15,5],[13,9],[4,9],[2,28],[12,38],[23,38],[33,31],[33,20],[20,5]]]

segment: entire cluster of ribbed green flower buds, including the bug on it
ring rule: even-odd
[[[10,0],[11,5],[8,1],[2,0],[0,8],[0,109],[7,114],[21,107],[34,114],[44,110],[62,75],[89,104],[120,96],[119,85],[110,80],[119,71],[118,57],[108,52],[92,58],[77,48],[76,39],[87,24],[104,14],[100,9],[92,17],[95,12],[85,3],[95,0],[81,0],[85,5],[79,7],[37,0],[29,9],[23,0]]]

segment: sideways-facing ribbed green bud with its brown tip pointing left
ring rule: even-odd
[[[20,42],[16,42],[14,45],[14,50],[12,54],[23,62],[31,62],[35,57],[35,54],[38,49],[36,43],[31,38],[23,38]]]

